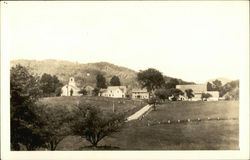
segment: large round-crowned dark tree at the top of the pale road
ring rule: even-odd
[[[152,93],[155,89],[162,87],[165,83],[162,73],[153,68],[140,71],[137,74],[137,80],[142,88],[147,88],[149,93]]]

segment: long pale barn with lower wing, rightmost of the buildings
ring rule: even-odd
[[[201,100],[202,93],[209,93],[212,97],[208,98],[208,101],[218,101],[219,92],[218,91],[207,91],[206,84],[194,84],[194,85],[176,85],[176,88],[184,92],[184,96],[180,100],[188,100],[185,90],[192,89],[194,97],[192,101]]]

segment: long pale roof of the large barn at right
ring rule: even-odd
[[[185,92],[186,89],[192,89],[194,93],[203,93],[207,91],[206,84],[176,85],[176,88],[183,92]]]

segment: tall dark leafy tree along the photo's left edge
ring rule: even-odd
[[[11,148],[35,150],[44,144],[40,135],[41,121],[34,113],[41,95],[39,80],[21,65],[10,70]]]

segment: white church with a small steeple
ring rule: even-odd
[[[61,96],[80,96],[79,91],[80,89],[76,86],[75,79],[70,77],[69,83],[62,87]]]

